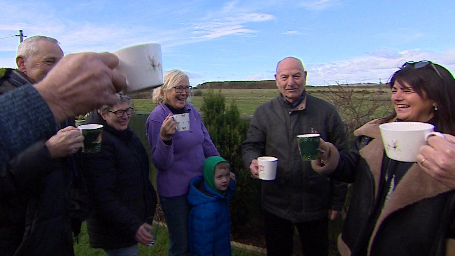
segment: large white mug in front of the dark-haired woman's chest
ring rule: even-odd
[[[385,154],[390,159],[402,162],[417,162],[421,146],[428,145],[431,136],[444,137],[434,132],[435,126],[430,123],[393,122],[379,125]]]

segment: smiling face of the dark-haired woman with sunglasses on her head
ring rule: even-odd
[[[435,101],[425,91],[422,97],[406,82],[395,81],[392,87],[392,102],[397,118],[403,121],[427,122],[433,117]]]

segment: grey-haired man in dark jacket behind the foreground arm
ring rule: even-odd
[[[18,69],[0,70],[0,94],[38,83],[63,57],[59,42],[51,37],[32,36],[21,42]],[[18,99],[21,100],[21,99]],[[71,255],[73,215],[70,198],[77,200],[77,212],[88,214],[87,199],[72,195],[85,190],[73,156],[82,146],[81,131],[67,119],[57,125],[51,138],[25,148],[0,169],[0,251],[1,255]],[[21,129],[21,128],[20,128]],[[22,131],[24,136],[29,131]],[[79,156],[80,159],[80,156]],[[77,218],[76,218],[77,217]],[[78,219],[78,218],[81,219]],[[76,232],[77,233],[77,232]]]

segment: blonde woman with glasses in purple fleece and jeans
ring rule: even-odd
[[[158,105],[146,122],[153,164],[158,169],[157,192],[169,231],[168,256],[188,255],[190,180],[202,176],[207,157],[219,155],[201,115],[188,102],[190,90],[184,72],[171,70],[164,74],[164,85],[153,91],[153,101]],[[190,129],[177,132],[172,115],[183,113],[190,116]]]

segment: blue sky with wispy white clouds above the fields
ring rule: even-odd
[[[164,71],[193,86],[273,79],[286,56],[309,85],[385,82],[411,60],[455,71],[453,0],[4,0],[0,17],[0,67],[15,67],[19,37],[5,37],[22,29],[65,54],[160,43]]]

